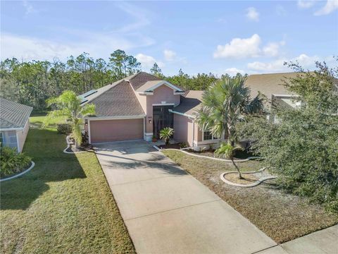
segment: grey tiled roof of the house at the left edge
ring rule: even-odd
[[[0,97],[0,129],[24,128],[32,107]]]

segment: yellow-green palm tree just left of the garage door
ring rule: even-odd
[[[94,115],[95,105],[84,104],[81,106],[81,100],[76,96],[75,92],[66,90],[62,95],[53,97],[46,100],[47,105],[50,107],[54,105],[55,110],[50,111],[46,119],[44,120],[43,126],[48,126],[51,119],[55,119],[59,116],[65,116],[70,121],[72,127],[72,133],[75,138],[75,144],[78,147],[82,143],[82,133],[80,129],[80,123],[82,123],[82,117]]]

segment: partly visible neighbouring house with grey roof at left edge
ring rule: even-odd
[[[0,144],[22,152],[30,128],[32,107],[0,97]]]

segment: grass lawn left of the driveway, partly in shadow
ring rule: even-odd
[[[35,167],[1,183],[1,253],[134,253],[96,155],[64,148],[55,128],[30,129]]]

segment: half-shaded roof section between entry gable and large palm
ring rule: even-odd
[[[175,107],[173,111],[194,116],[196,111],[201,107],[203,92],[200,90],[190,90],[184,96],[181,96],[180,105]]]

